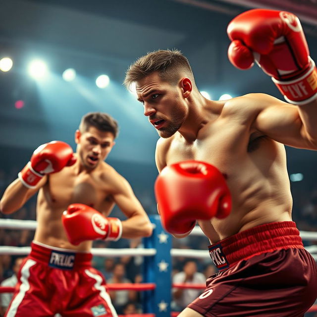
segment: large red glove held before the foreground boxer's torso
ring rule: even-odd
[[[224,218],[231,196],[220,171],[206,162],[188,160],[165,166],[155,182],[162,224],[174,234],[190,232],[196,219]]]

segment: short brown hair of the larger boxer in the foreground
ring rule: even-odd
[[[129,89],[133,82],[154,72],[158,72],[162,80],[172,84],[176,84],[182,74],[194,82],[189,61],[180,51],[159,50],[148,53],[132,63],[126,71],[123,84]]]

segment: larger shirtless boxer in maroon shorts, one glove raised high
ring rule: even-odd
[[[228,35],[230,61],[247,69],[255,56],[293,105],[265,94],[207,100],[179,51],[148,53],[125,77],[160,136],[162,223],[184,237],[198,219],[219,268],[179,316],[304,316],[317,267],[291,218],[283,144],[317,150],[317,71],[291,13],[244,12]]]

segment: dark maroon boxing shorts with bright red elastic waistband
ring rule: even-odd
[[[317,265],[295,222],[263,224],[209,247],[219,272],[189,308],[206,317],[303,317],[317,297]]]

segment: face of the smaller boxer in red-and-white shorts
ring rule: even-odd
[[[93,126],[83,133],[77,130],[75,141],[82,164],[90,169],[97,167],[110,153],[114,145],[113,139],[111,132],[101,131]]]

